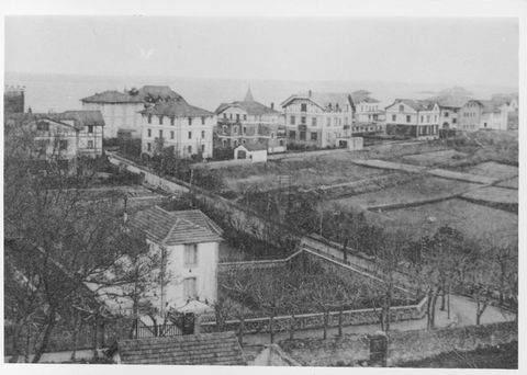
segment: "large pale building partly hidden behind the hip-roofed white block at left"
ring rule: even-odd
[[[104,122],[104,138],[115,138],[127,134],[134,138],[141,137],[141,111],[145,104],[169,100],[182,100],[181,95],[168,86],[144,86],[141,89],[104,91],[83,98],[83,110],[101,111]]]

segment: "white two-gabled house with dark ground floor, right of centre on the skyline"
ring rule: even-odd
[[[386,134],[423,139],[439,137],[439,105],[430,101],[396,99],[386,106]]]

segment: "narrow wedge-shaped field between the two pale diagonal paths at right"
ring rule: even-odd
[[[450,194],[459,194],[476,186],[478,184],[468,182],[418,175],[413,181],[402,185],[388,188],[377,192],[358,194],[346,198],[334,200],[332,202],[343,206],[361,205],[363,207],[371,207],[392,203],[410,203],[426,198],[442,197]]]

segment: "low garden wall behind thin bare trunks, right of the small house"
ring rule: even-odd
[[[412,319],[422,319],[426,312],[426,298],[417,305],[396,306],[390,309],[391,321],[402,321]],[[358,310],[329,311],[327,322],[325,322],[325,314],[300,314],[294,317],[291,315],[277,316],[272,318],[272,331],[285,332],[290,330],[319,329],[338,327],[340,319],[343,327],[359,325],[375,325],[379,322],[380,308],[366,308]],[[227,320],[222,327],[223,331],[238,331],[240,320]],[[270,332],[271,318],[250,318],[244,320],[244,333],[267,333]],[[200,325],[200,332],[217,331],[215,321],[206,321]]]

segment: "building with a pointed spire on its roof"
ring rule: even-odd
[[[216,109],[215,147],[234,149],[239,145],[264,144],[269,154],[287,150],[283,115],[255,100],[250,87],[243,101],[222,103]],[[233,155],[234,157],[234,155]]]

